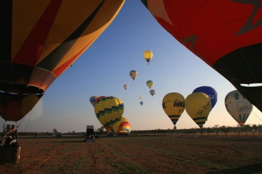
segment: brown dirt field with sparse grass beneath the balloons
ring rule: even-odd
[[[262,173],[260,136],[20,137],[0,173]]]

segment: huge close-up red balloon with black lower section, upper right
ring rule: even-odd
[[[166,31],[262,112],[260,1],[141,0]]]

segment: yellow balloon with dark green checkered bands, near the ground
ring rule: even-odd
[[[122,101],[115,97],[99,97],[95,102],[96,117],[105,129],[111,129],[121,118],[123,111]]]

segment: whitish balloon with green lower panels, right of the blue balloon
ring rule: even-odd
[[[253,105],[246,100],[237,90],[231,91],[225,98],[227,112],[243,127],[248,119]]]

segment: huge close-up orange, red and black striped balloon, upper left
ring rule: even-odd
[[[7,1],[1,7],[0,115],[22,119],[110,25],[124,0]]]

